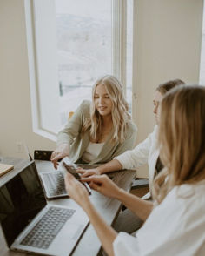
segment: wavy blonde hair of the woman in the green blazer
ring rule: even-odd
[[[124,98],[121,82],[114,76],[106,75],[96,81],[92,88],[92,104],[90,106],[90,118],[85,120],[83,125],[82,134],[89,130],[90,138],[95,141],[102,132],[102,117],[96,110],[94,102],[96,86],[103,84],[108,91],[109,98],[112,101],[112,122],[113,122],[113,136],[112,142],[122,143],[125,140],[125,134],[127,130],[127,124],[130,119],[129,104]]]

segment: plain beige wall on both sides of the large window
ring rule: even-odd
[[[28,1],[28,0],[27,0]],[[199,78],[202,0],[136,1],[136,108],[138,139],[152,131],[152,97],[171,78]],[[0,155],[23,157],[18,141],[30,148],[55,143],[32,131],[30,84],[23,0],[0,1]]]

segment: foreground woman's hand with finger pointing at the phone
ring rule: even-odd
[[[103,195],[117,199],[121,188],[118,187],[109,177],[105,174],[103,175],[93,175],[88,178],[82,178],[83,182],[88,182],[89,186],[96,190],[97,192],[101,192]]]

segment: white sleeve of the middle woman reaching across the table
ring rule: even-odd
[[[121,163],[123,169],[136,169],[148,163],[150,147],[155,136],[154,131],[142,143],[136,145],[133,150],[126,151],[114,158]]]

